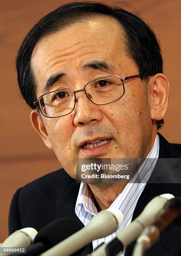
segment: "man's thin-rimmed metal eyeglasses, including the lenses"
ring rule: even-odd
[[[145,74],[138,74],[121,78],[118,75],[99,77],[85,84],[83,89],[74,91],[70,88],[61,88],[47,92],[33,102],[39,108],[42,115],[47,118],[58,118],[70,114],[77,102],[76,93],[85,92],[88,99],[95,105],[107,105],[123,97],[125,88],[123,81],[135,77],[143,77]]]

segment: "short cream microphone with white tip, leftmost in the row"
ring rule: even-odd
[[[38,232],[35,228],[22,228],[20,230],[16,230],[12,233],[5,241],[1,244],[0,247],[21,247],[26,248],[33,243],[33,240]],[[0,255],[10,255],[9,253],[0,253]]]

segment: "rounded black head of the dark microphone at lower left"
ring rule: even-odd
[[[57,243],[60,243],[65,238],[77,232],[83,227],[84,225],[80,222],[79,219],[56,219],[40,229],[37,236],[35,237],[34,244],[41,242],[46,244],[50,248]]]

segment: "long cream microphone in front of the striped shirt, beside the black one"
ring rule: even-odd
[[[123,214],[117,209],[106,209],[99,212],[84,228],[63,242],[41,254],[42,256],[67,256],[97,238],[115,232],[123,221]]]

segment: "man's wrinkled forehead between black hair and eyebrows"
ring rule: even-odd
[[[124,41],[121,25],[107,16],[88,18],[41,38],[31,58],[38,90],[52,74],[85,74],[87,61],[120,66],[125,58]]]

